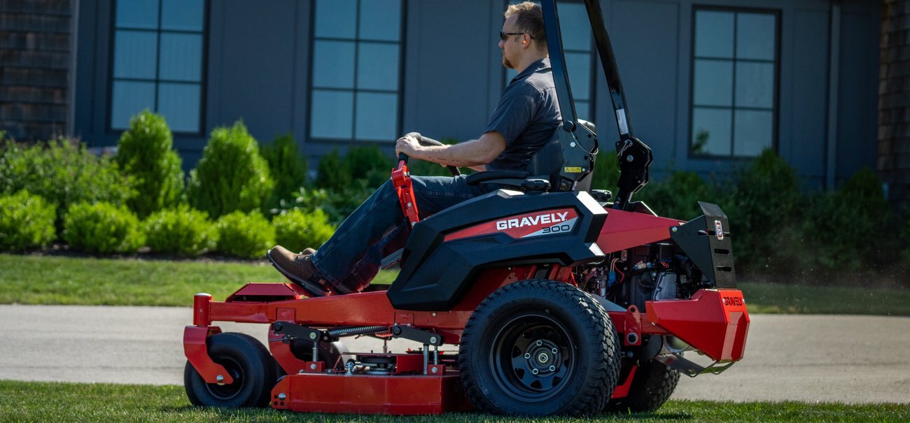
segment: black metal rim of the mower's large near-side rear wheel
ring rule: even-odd
[[[490,368],[511,398],[538,402],[569,385],[575,344],[558,320],[531,312],[512,317],[492,339]]]

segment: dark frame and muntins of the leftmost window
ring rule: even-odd
[[[108,60],[107,60],[107,96],[106,96],[106,116],[105,116],[105,131],[107,134],[121,134],[127,129],[115,128],[113,123],[114,116],[114,82],[115,80],[126,80],[126,81],[142,81],[148,82],[151,81],[155,84],[155,103],[152,106],[147,107],[149,110],[157,112],[158,106],[158,92],[160,90],[159,85],[164,82],[166,84],[176,83],[176,84],[193,84],[196,83],[187,83],[187,81],[172,81],[172,80],[162,80],[159,76],[160,74],[160,59],[161,59],[161,34],[192,34],[202,36],[202,54],[199,57],[199,125],[198,130],[195,132],[191,131],[179,131],[171,128],[171,133],[175,136],[205,136],[206,133],[206,107],[207,107],[207,86],[208,86],[208,31],[209,31],[209,22],[211,18],[211,2],[209,0],[202,0],[202,31],[188,31],[188,30],[174,30],[174,29],[162,29],[161,28],[161,16],[164,0],[157,0],[158,3],[158,19],[157,19],[157,28],[156,29],[142,29],[142,28],[120,28],[126,29],[128,31],[138,31],[138,32],[147,32],[155,33],[157,36],[156,49],[155,49],[155,79],[139,79],[139,78],[117,78],[114,76],[114,62],[116,61],[116,11],[118,0],[111,0],[110,8],[110,21],[108,22],[108,29],[110,38],[108,39]],[[136,114],[142,110],[136,111]],[[169,126],[168,126],[169,127]]]

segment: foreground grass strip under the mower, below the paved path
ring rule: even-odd
[[[652,414],[599,418],[508,418],[476,413],[442,417],[392,417],[305,414],[272,409],[214,409],[189,406],[183,387],[139,385],[66,384],[0,381],[0,422],[258,422],[258,421],[362,421],[362,422],[568,422],[568,421],[908,421],[910,405],[844,405],[804,403],[722,403],[670,401]]]

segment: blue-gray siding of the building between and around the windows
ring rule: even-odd
[[[106,130],[111,1],[85,0],[80,6],[75,132],[97,146],[113,145],[118,136]],[[840,4],[840,37],[833,40],[828,0],[602,0],[635,134],[654,150],[654,176],[670,167],[726,173],[748,163],[689,153],[693,5],[780,11],[776,147],[808,186],[824,186],[832,173],[843,179],[860,166],[875,166],[879,6],[864,0]],[[405,1],[401,132],[461,140],[480,135],[504,86],[496,35],[504,5]],[[175,142],[187,167],[194,166],[213,127],[238,118],[261,142],[292,133],[308,155],[347,146],[307,137],[311,12],[308,0],[268,6],[209,2],[205,135],[177,136]],[[829,81],[832,43],[840,58],[835,93]],[[602,145],[610,148],[617,131],[596,67],[593,120]],[[829,113],[837,116],[834,126]],[[393,141],[382,146],[390,151]]]

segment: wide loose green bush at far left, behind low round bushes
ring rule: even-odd
[[[133,178],[119,172],[115,163],[66,139],[35,146],[5,141],[0,148],[0,194],[23,189],[56,203],[58,231],[72,204],[103,201],[120,206],[136,196]]]

